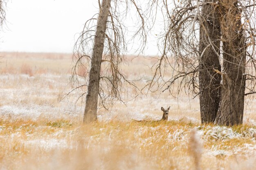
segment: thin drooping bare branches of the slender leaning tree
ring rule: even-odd
[[[103,6],[99,3],[99,9]],[[150,4],[150,2],[148,2]],[[152,7],[151,6],[147,7]],[[100,79],[99,79],[99,102],[98,106],[108,108],[113,102],[119,100],[125,103],[124,96],[127,96],[127,88],[135,91],[137,96],[140,91],[134,81],[127,78],[122,73],[121,66],[126,61],[126,53],[128,49],[128,38],[132,40],[140,40],[141,46],[137,46],[138,53],[141,53],[147,41],[147,33],[150,28],[148,22],[148,13],[152,9],[144,9],[137,0],[111,0],[110,8],[108,9],[108,18],[106,32],[104,33],[105,40],[103,43],[103,55],[100,63]],[[135,11],[136,15],[128,13]],[[126,19],[136,18],[135,29],[129,31],[127,29]],[[96,38],[97,20],[99,13],[85,22],[83,31],[79,35],[74,46],[74,67],[72,69],[72,82],[75,87],[83,84],[89,84],[89,70],[91,69],[92,47]],[[96,31],[95,31],[96,30]],[[126,35],[129,35],[126,37]],[[84,73],[81,71],[84,70]],[[87,93],[88,89],[84,88],[83,93]]]

